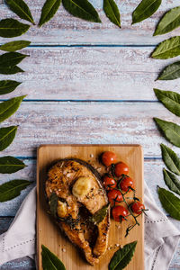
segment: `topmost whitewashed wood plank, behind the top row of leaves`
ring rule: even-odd
[[[40,19],[40,9],[44,3],[43,0],[26,1],[31,7],[31,13],[35,22]],[[31,40],[34,44],[157,44],[158,41],[165,39],[165,36],[152,37],[155,26],[159,18],[168,9],[179,5],[178,0],[163,0],[162,4],[150,19],[131,25],[131,14],[139,0],[126,1],[124,3],[117,1],[121,10],[121,30],[114,26],[103,14],[103,0],[92,0],[91,3],[97,8],[103,23],[88,23],[67,14],[61,6],[54,18],[42,28],[32,26],[23,39]],[[1,4],[0,18],[17,18],[5,4]],[[166,37],[179,34],[176,30]],[[5,39],[1,39],[4,42]]]

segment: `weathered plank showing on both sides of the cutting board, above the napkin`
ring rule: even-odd
[[[36,161],[35,160],[25,160],[25,164],[28,165],[25,169],[22,171],[19,171],[13,175],[13,177],[9,177],[9,175],[1,175],[0,176],[0,183],[4,183],[10,179],[15,178],[24,178],[30,179],[34,181],[35,184],[35,169],[36,169]],[[164,166],[163,162],[161,160],[146,160],[145,159],[145,175],[144,179],[146,183],[148,184],[148,187],[153,194],[157,205],[160,207],[160,209],[163,211],[160,202],[157,197],[157,184],[161,187],[166,187],[164,180],[163,180],[163,174],[162,174],[162,168]],[[29,175],[29,176],[27,176]],[[32,184],[30,187],[28,187],[26,190],[24,190],[21,195],[17,198],[15,198],[12,201],[9,202],[1,202],[0,203],[0,216],[14,216],[16,211],[19,209],[21,203],[23,202],[24,197],[30,192],[31,188],[34,186]],[[4,225],[0,225],[0,232],[4,229]]]

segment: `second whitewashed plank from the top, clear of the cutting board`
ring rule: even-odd
[[[152,48],[31,48],[23,49],[23,81],[15,94],[43,100],[157,100],[153,87],[179,91],[179,79],[157,81],[168,63],[148,58]],[[9,76],[0,76],[0,79]]]

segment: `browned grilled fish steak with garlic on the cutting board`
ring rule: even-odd
[[[49,169],[45,192],[49,203],[52,194],[57,196],[59,228],[94,266],[106,251],[110,227],[109,209],[98,224],[90,221],[108,203],[100,175],[83,160],[62,159]]]

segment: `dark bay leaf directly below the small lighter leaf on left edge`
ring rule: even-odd
[[[6,52],[0,55],[0,67],[14,67],[27,57],[28,55],[20,52]]]

